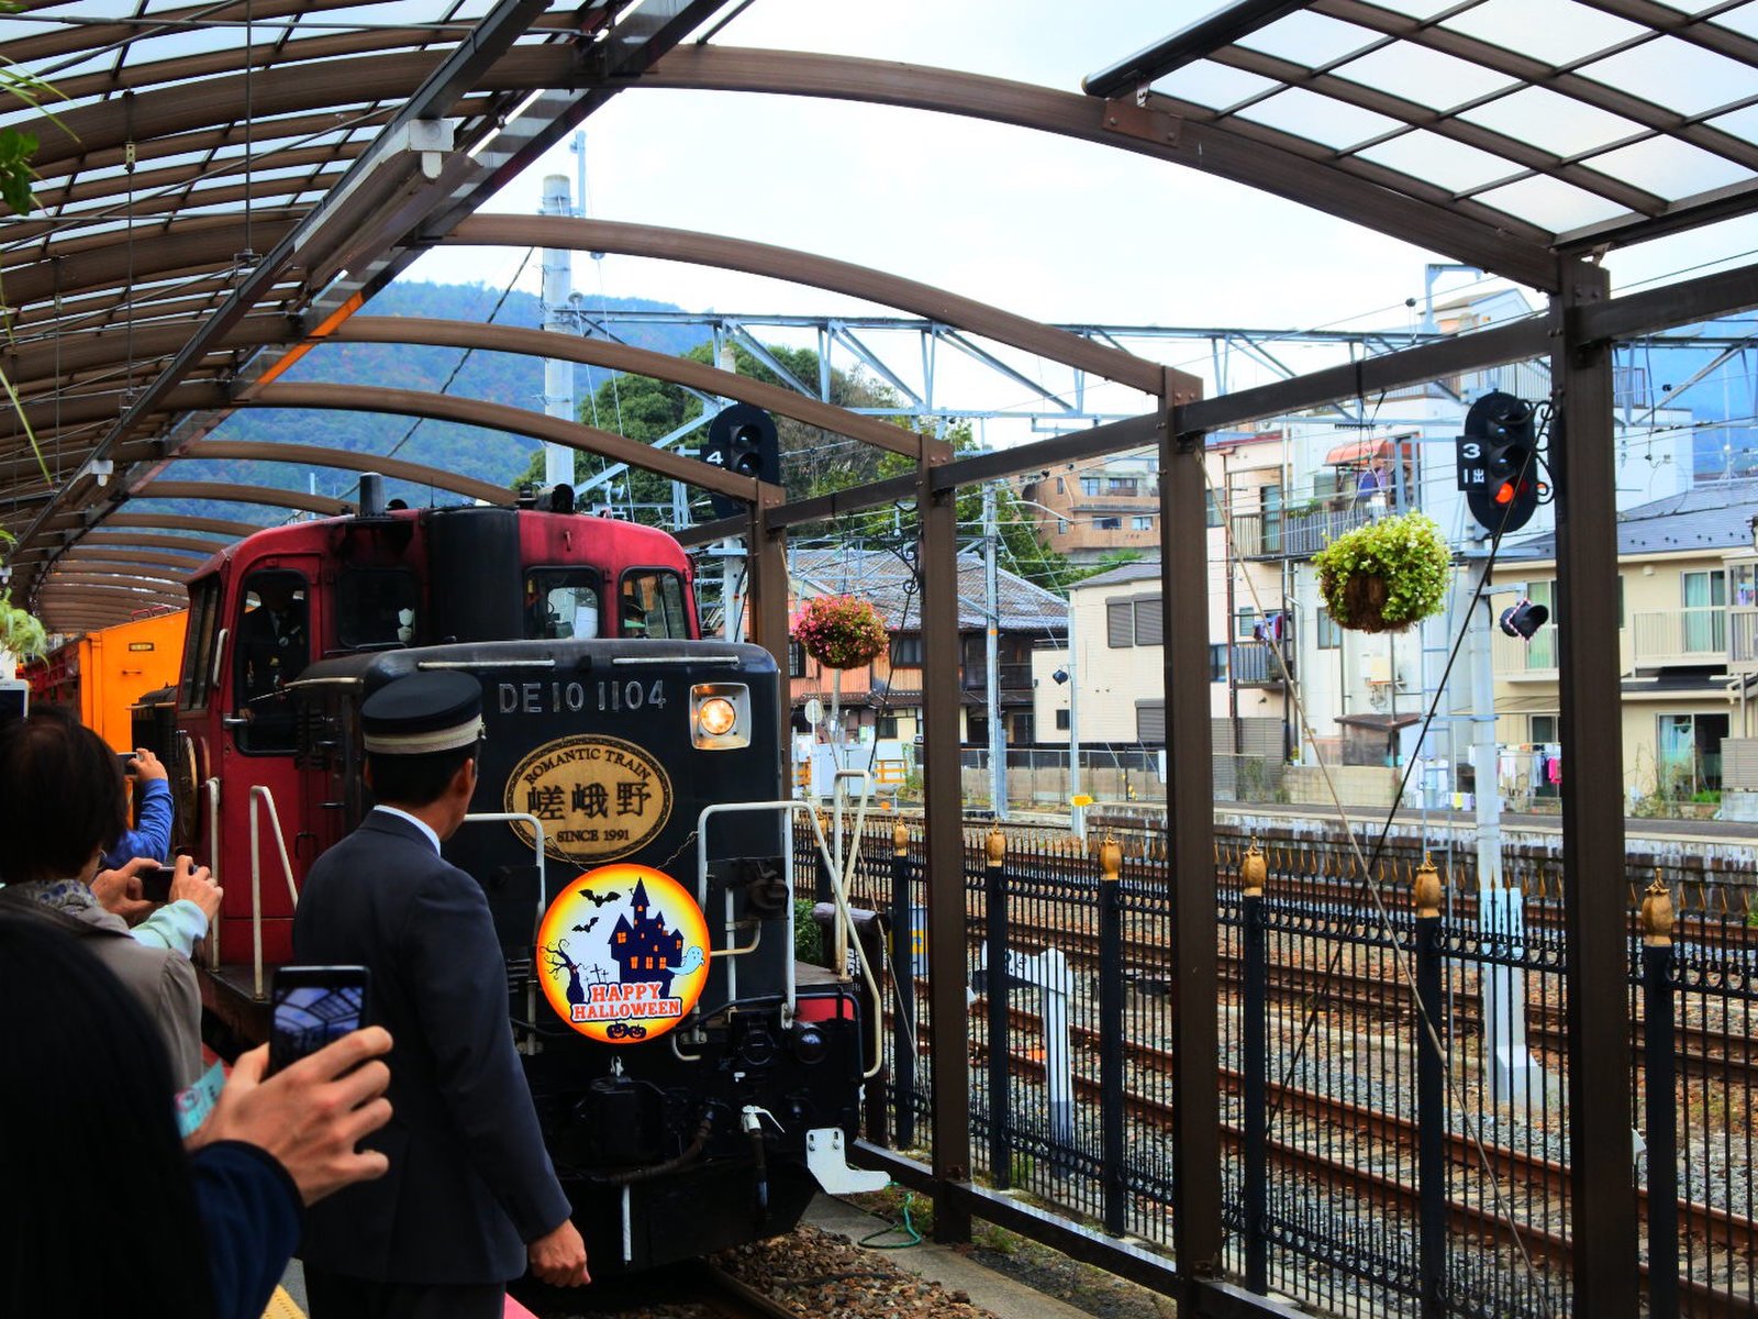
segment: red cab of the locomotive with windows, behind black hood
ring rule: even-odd
[[[315,661],[418,645],[696,638],[689,561],[652,528],[513,508],[271,528],[190,582],[178,691],[178,848],[225,888],[209,948],[237,988],[292,955],[311,862],[348,828],[301,754],[290,688]]]

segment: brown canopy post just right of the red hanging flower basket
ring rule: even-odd
[[[965,1008],[965,846],[958,784],[956,487],[916,468],[916,570],[921,573],[921,781],[926,814],[928,1002],[933,1053],[933,1236],[970,1240],[970,1210],[953,1189],[970,1180],[970,1024]]]

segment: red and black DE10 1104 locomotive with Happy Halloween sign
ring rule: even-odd
[[[232,638],[288,587],[308,652],[253,689]],[[262,1036],[299,881],[371,807],[360,703],[461,670],[485,740],[445,853],[487,893],[594,1273],[786,1231],[816,1187],[884,1182],[844,1164],[872,976],[793,957],[782,679],[765,649],[698,638],[677,542],[538,510],[369,510],[258,533],[190,589],[165,751],[185,839],[227,888],[214,1018]]]

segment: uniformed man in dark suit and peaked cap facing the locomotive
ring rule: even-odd
[[[294,955],[373,974],[397,1041],[385,1178],[313,1206],[313,1319],[499,1319],[506,1282],[589,1282],[585,1243],[543,1150],[506,1017],[506,967],[480,885],[440,856],[476,790],[482,688],[454,670],[360,707],[376,809],[311,867]]]

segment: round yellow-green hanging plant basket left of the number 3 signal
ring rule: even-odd
[[[1405,631],[1438,614],[1452,550],[1431,517],[1401,514],[1347,531],[1313,556],[1326,612],[1354,631]]]

